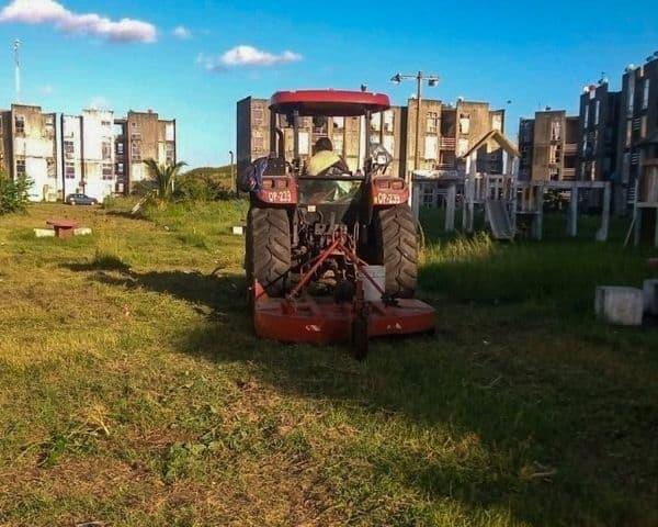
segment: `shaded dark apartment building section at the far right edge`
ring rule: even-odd
[[[628,197],[643,170],[643,144],[658,133],[658,56],[639,67],[628,66],[622,78],[617,133],[617,169],[622,188],[617,205]]]

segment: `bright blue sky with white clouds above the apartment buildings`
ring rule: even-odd
[[[616,88],[627,64],[658,51],[656,1],[326,4],[320,13],[311,1],[0,1],[0,106],[14,100],[19,37],[23,102],[67,113],[152,108],[178,120],[181,159],[219,165],[235,145],[235,103],[248,94],[365,82],[401,104],[413,85],[388,79],[422,69],[442,79],[427,97],[507,108],[515,137],[520,116],[576,111],[601,71]]]

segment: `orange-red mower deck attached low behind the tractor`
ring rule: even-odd
[[[332,299],[270,299],[256,284],[256,334],[282,343],[332,344],[352,339],[354,304]],[[367,338],[412,335],[434,330],[434,310],[419,300],[398,300],[396,305],[368,302]]]

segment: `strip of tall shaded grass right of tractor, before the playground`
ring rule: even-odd
[[[597,285],[638,287],[648,273],[642,251],[566,236],[497,243],[484,233],[434,234],[423,262],[423,290],[458,301],[537,301],[564,312],[589,312]]]

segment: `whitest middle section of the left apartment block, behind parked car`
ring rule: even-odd
[[[63,195],[84,192],[103,201],[118,192],[114,172],[114,113],[61,115]]]

